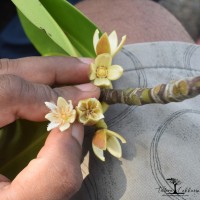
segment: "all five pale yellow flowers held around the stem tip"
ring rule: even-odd
[[[112,65],[112,58],[122,48],[126,36],[122,37],[118,45],[118,38],[115,31],[109,36],[104,33],[99,38],[99,31],[96,30],[93,37],[93,45],[97,57],[94,63],[90,65],[89,79],[100,88],[112,88],[112,80],[120,78],[123,74],[123,68],[119,65]],[[105,161],[104,151],[108,150],[113,156],[120,158],[122,149],[119,140],[126,143],[126,140],[116,132],[108,130],[104,121],[104,112],[106,104],[100,103],[95,98],[81,100],[74,108],[72,101],[68,102],[59,97],[57,105],[51,102],[45,102],[51,110],[45,118],[50,121],[47,130],[59,127],[64,131],[70,127],[76,119],[83,125],[95,125],[96,132],[92,140],[92,148],[95,155],[102,161]],[[119,140],[118,140],[119,139]]]

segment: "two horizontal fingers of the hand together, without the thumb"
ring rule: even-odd
[[[86,63],[84,63],[84,62]],[[99,90],[88,82],[88,59],[66,57],[30,57],[0,60],[0,127],[18,118],[44,121],[48,112],[44,102],[58,96],[73,100],[98,97]]]

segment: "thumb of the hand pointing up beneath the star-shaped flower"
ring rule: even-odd
[[[72,135],[74,130],[83,135],[78,123],[65,132],[55,129],[49,134],[37,158],[6,186],[9,199],[70,199],[79,190],[81,145]]]

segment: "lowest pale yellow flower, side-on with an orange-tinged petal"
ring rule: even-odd
[[[126,143],[126,140],[118,133],[108,129],[99,129],[96,131],[92,140],[94,154],[100,160],[105,161],[104,151],[108,150],[113,156],[121,158],[122,148],[118,139],[121,140],[122,143]]]

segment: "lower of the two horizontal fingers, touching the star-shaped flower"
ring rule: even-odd
[[[49,112],[44,102],[57,102],[59,96],[76,105],[81,99],[99,97],[99,88],[91,83],[54,88],[34,84],[13,75],[0,76],[0,127],[18,118],[44,121]]]

